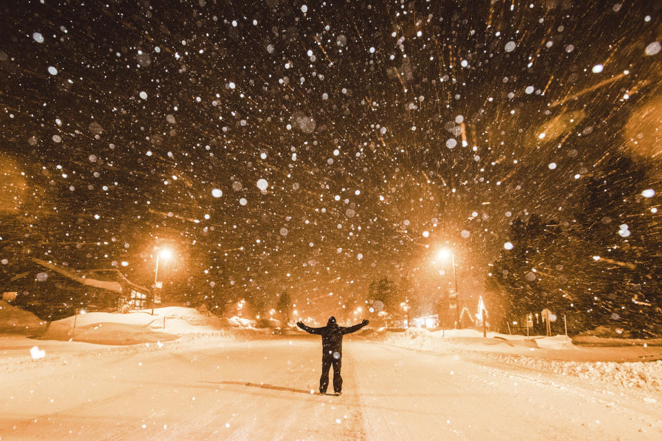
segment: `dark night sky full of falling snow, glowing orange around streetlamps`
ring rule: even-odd
[[[513,220],[572,228],[623,157],[643,196],[612,209],[662,234],[662,1],[43,0],[0,29],[5,274],[148,285],[170,247],[167,289],[317,316],[449,287],[451,247],[477,296]]]

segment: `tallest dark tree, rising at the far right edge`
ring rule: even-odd
[[[611,323],[651,336],[662,331],[662,239],[641,195],[645,167],[624,154],[604,167],[608,173],[587,180],[571,232],[588,257],[577,268],[590,289],[579,314],[592,326]]]

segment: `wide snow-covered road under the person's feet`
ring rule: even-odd
[[[317,396],[318,339],[203,343],[3,373],[0,440],[662,439],[659,400],[577,378],[357,339]]]

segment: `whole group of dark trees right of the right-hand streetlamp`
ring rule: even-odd
[[[503,320],[550,309],[568,330],[600,325],[650,337],[662,332],[662,238],[641,195],[643,167],[627,156],[587,178],[574,220],[516,219],[511,250],[503,249],[488,278]]]

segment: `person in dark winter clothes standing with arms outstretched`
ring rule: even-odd
[[[365,325],[368,325],[368,320],[350,327],[338,326],[335,317],[329,317],[326,326],[321,328],[311,328],[303,325],[303,322],[297,322],[297,326],[308,334],[322,336],[322,376],[319,378],[319,393],[326,393],[329,385],[329,369],[332,365],[333,391],[336,395],[342,393],[343,378],[340,376],[340,368],[343,360],[343,336],[356,332]]]

